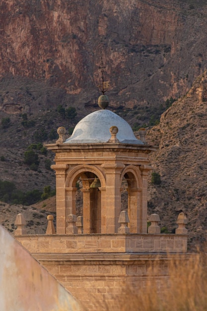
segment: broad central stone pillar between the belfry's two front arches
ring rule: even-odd
[[[105,169],[106,174],[105,208],[104,211],[101,211],[104,221],[102,222],[101,233],[117,233],[121,212],[120,175],[125,165],[121,163],[105,163],[101,166]]]

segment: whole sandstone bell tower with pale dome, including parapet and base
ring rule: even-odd
[[[99,97],[106,108],[108,97]],[[111,295],[123,284],[138,290],[159,265],[159,290],[167,279],[167,262],[187,251],[186,219],[180,215],[176,234],[160,234],[159,216],[153,214],[147,233],[148,154],[155,149],[138,140],[130,125],[107,109],[97,110],[78,122],[66,139],[46,147],[55,153],[56,231],[48,218],[46,235],[18,233],[16,238],[79,300],[86,310],[116,310]],[[82,213],[76,208],[77,182],[82,188]],[[123,183],[128,202],[122,208]],[[181,213],[182,214],[182,213]],[[19,231],[20,232],[20,231]],[[150,270],[151,271],[151,270]],[[163,285],[164,288],[166,284]]]

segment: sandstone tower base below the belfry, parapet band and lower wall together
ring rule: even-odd
[[[143,288],[150,278],[162,292],[168,282],[168,262],[187,256],[187,235],[182,234],[54,234],[16,238],[88,311],[105,311],[107,306],[116,311],[114,301],[124,289]]]

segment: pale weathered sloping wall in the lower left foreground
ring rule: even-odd
[[[77,311],[69,292],[0,226],[0,310]]]

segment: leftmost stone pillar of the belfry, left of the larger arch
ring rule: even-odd
[[[56,171],[56,232],[57,234],[66,233],[66,170],[68,164],[54,164],[51,168]]]

